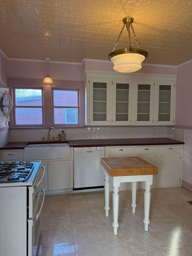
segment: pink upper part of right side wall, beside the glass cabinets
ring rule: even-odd
[[[177,68],[176,125],[192,128],[192,62]]]

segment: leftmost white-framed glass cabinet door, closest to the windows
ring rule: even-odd
[[[110,79],[91,78],[89,125],[110,125]]]

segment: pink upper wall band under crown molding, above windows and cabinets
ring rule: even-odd
[[[44,79],[47,71],[46,62],[6,60],[9,78]],[[49,62],[49,75],[52,80],[84,81],[84,70],[114,71],[113,64],[108,61],[85,60],[83,65]],[[177,74],[177,68],[143,65],[138,73]],[[136,73],[137,73],[136,72]]]

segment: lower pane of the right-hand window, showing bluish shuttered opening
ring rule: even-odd
[[[78,109],[54,108],[54,124],[78,124]]]

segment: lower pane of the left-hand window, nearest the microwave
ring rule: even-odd
[[[42,108],[16,108],[16,125],[42,125]]]

